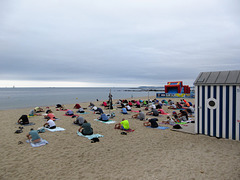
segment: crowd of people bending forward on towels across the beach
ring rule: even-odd
[[[151,102],[151,103],[149,103]],[[123,114],[128,114],[129,111],[131,111],[131,107],[135,106],[136,108],[138,107],[146,107],[145,110],[148,110],[146,113],[143,112],[143,110],[139,110],[138,113],[132,115],[131,117],[134,119],[139,119],[143,122],[144,126],[150,126],[152,128],[157,128],[159,126],[158,124],[158,116],[161,113],[164,113],[162,109],[162,106],[168,106],[169,109],[175,109],[174,108],[174,101],[169,99],[168,101],[162,100],[158,101],[154,99],[153,101],[142,101],[142,100],[137,100],[137,101],[127,101],[127,100],[119,100],[118,104],[120,104],[120,107],[122,108],[121,113]],[[147,106],[145,106],[147,104]],[[162,123],[164,124],[170,124],[174,125],[175,123],[182,122],[182,121],[187,121],[189,115],[192,115],[194,113],[194,108],[190,105],[189,102],[186,103],[186,101],[183,99],[180,102],[177,102],[177,105],[180,104],[181,107],[186,107],[184,110],[180,110],[180,112],[177,114],[175,111],[173,111],[173,118],[170,116],[167,116],[166,120],[163,120]],[[107,104],[103,102],[102,104],[104,107],[107,107]],[[110,116],[105,114],[102,108],[95,106],[93,103],[90,103],[89,105],[90,110],[93,111],[95,114],[99,114],[100,116],[98,117],[98,120],[100,121],[109,121]],[[180,106],[179,106],[180,107]],[[66,109],[64,105],[57,104],[56,108],[59,110],[65,110],[66,115],[74,115],[74,112],[72,110]],[[77,112],[79,113],[84,113],[84,109],[81,107],[80,104],[76,104],[74,106],[75,109],[78,109]],[[176,109],[178,107],[176,106]],[[151,109],[151,110],[150,110]],[[189,109],[189,111],[188,111]],[[149,111],[150,110],[150,111]],[[33,109],[33,114],[34,113],[39,113],[43,112],[42,108],[36,107]],[[44,118],[47,119],[47,122],[43,124],[44,127],[49,128],[49,129],[54,129],[56,128],[55,120],[56,117],[53,114],[52,110],[47,108],[46,111],[47,115],[44,116]],[[154,116],[153,118],[147,118],[146,115],[148,116]],[[27,115],[23,115],[19,118],[18,122],[20,124],[28,123],[28,118]],[[74,124],[79,125],[78,131],[82,133],[83,135],[92,135],[93,134],[93,128],[91,126],[91,123],[89,123],[84,117],[78,116],[73,122]],[[129,121],[125,118],[121,120],[120,123],[115,124],[114,126],[115,129],[121,129],[121,130],[129,130]],[[27,134],[27,137],[32,140],[32,142],[39,142],[40,136],[38,135],[38,132],[36,130],[31,129],[29,134]]]

